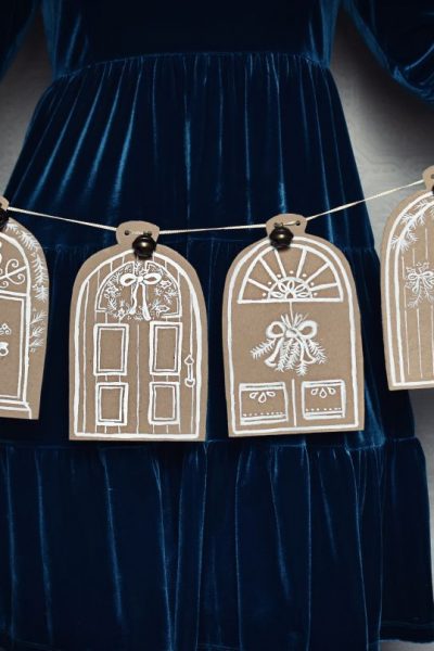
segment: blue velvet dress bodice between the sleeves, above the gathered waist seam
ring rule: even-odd
[[[42,0],[54,78],[91,63],[150,52],[272,50],[328,65],[339,4]]]

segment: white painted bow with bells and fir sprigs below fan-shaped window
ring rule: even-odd
[[[282,315],[280,321],[272,321],[266,329],[267,340],[255,346],[251,353],[255,359],[271,353],[264,361],[277,371],[294,369],[305,375],[307,367],[327,360],[323,348],[315,341],[318,324],[296,314]]]

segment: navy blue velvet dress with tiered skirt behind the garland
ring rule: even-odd
[[[1,3],[9,65],[36,8]],[[107,225],[265,221],[361,197],[329,69],[340,0],[42,0],[53,81],[3,193]],[[348,0],[373,52],[434,101],[431,0]],[[40,420],[0,422],[0,646],[74,651],[374,651],[434,639],[425,463],[386,387],[365,206],[310,232],[348,257],[363,432],[228,439],[221,301],[256,231],[162,238],[209,318],[207,441],[68,442],[68,314],[107,231],[23,217],[51,275]],[[260,235],[261,237],[261,235]]]

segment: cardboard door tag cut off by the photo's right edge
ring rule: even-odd
[[[381,293],[391,390],[434,386],[434,166],[383,234]]]

